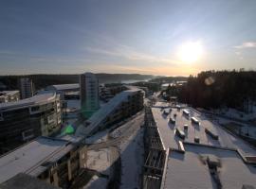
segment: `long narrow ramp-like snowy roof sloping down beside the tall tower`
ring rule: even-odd
[[[83,125],[80,126],[77,131],[76,135],[83,135],[86,136],[90,134],[94,129],[96,129],[101,122],[119,105],[127,100],[127,97],[137,93],[138,91],[141,91],[140,89],[137,89],[136,87],[131,87],[127,91],[123,91],[117,95],[115,95],[111,100],[108,101],[98,112],[95,112],[86,122],[89,123],[88,127],[84,127]]]

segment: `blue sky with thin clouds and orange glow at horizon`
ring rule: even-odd
[[[193,62],[186,43],[200,43]],[[0,1],[0,75],[189,76],[255,60],[255,0]]]

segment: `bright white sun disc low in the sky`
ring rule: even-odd
[[[179,60],[187,63],[195,62],[202,56],[203,48],[200,42],[183,43],[178,48]]]

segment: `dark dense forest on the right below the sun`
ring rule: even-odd
[[[206,71],[190,76],[179,89],[169,89],[179,100],[193,107],[220,108],[223,106],[245,111],[256,99],[255,71]]]

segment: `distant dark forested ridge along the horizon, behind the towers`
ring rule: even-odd
[[[152,75],[139,74],[96,74],[100,83],[121,82],[122,80],[143,80],[153,78]],[[7,90],[18,89],[18,80],[28,77],[33,80],[36,89],[45,88],[48,85],[78,83],[79,75],[27,75],[27,76],[0,76],[0,82],[6,85]]]

